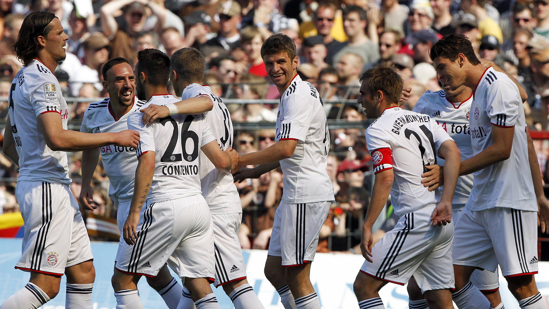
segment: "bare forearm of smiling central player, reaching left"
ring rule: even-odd
[[[298,140],[282,140],[264,150],[250,152],[240,156],[239,166],[273,163],[292,157]]]

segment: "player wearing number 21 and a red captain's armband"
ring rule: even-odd
[[[362,227],[366,261],[354,283],[360,309],[383,309],[378,291],[388,282],[404,285],[412,275],[430,308],[452,308],[452,198],[460,166],[460,150],[429,115],[404,111],[398,102],[404,81],[395,70],[379,66],[361,76],[358,103],[368,118],[366,129],[376,179]],[[425,165],[446,159],[440,202],[421,184]],[[401,216],[372,249],[372,225],[389,196]]]

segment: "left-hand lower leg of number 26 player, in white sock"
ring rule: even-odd
[[[143,309],[137,291],[137,283],[140,278],[141,275],[126,274],[114,269],[111,284],[113,284],[116,297],[116,309]]]

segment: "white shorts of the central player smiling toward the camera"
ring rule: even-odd
[[[318,234],[332,202],[288,204],[275,212],[268,255],[282,257],[282,266],[298,266],[315,259]]]

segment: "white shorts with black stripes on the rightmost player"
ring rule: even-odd
[[[494,207],[463,209],[456,224],[453,263],[504,277],[537,273],[537,213]]]

